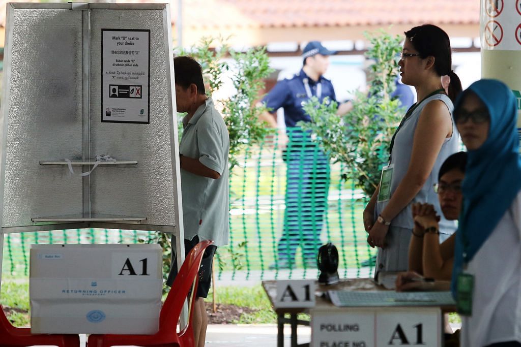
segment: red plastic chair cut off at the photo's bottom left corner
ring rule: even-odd
[[[32,334],[30,328],[14,327],[0,305],[0,347],[19,346],[79,347],[80,337],[72,334]]]

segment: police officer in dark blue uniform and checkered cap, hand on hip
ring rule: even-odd
[[[322,76],[329,66],[329,56],[333,54],[336,52],[320,42],[309,42],[302,53],[302,70],[291,79],[279,81],[263,99],[273,113],[266,112],[261,119],[277,127],[274,113],[283,108],[287,135],[281,134],[279,140],[279,145],[286,147],[283,156],[288,165],[284,229],[278,243],[278,262],[270,265],[271,269],[292,267],[299,246],[304,266],[316,267],[320,231],[327,210],[329,158],[297,123],[311,121],[302,109],[311,97],[320,101],[328,97],[336,101],[331,81]],[[342,104],[337,113],[346,113],[349,107]]]

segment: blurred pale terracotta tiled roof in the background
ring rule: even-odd
[[[172,2],[176,21],[176,2]],[[184,0],[185,28],[478,24],[479,0]]]

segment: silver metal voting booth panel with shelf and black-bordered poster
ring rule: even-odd
[[[171,52],[167,4],[8,4],[0,245],[109,227],[173,233],[184,255]]]

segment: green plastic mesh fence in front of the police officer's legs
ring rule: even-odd
[[[218,249],[220,279],[316,278],[316,251],[331,241],[341,277],[369,277],[375,250],[366,242],[362,212],[367,197],[353,173],[330,163],[298,129],[286,146],[277,138],[251,148],[230,175],[230,243]],[[282,150],[282,148],[284,148]],[[341,176],[348,177],[347,181]],[[3,274],[28,276],[35,243],[137,243],[150,232],[77,229],[7,234]]]

